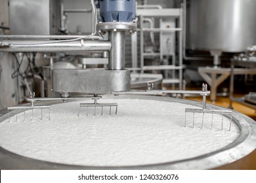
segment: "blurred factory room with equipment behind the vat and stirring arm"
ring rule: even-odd
[[[0,35],[95,31],[90,1],[1,0],[0,4]],[[158,80],[155,87],[174,90],[207,82],[209,102],[226,96],[225,107],[232,107],[229,99],[236,100],[251,108],[253,116],[255,0],[138,0],[136,6],[137,32],[125,35],[125,68],[133,71],[134,80],[142,73]],[[106,68],[108,64],[107,52],[1,52],[4,45],[0,47],[0,109],[22,103],[29,92],[37,97],[58,95],[51,91],[52,68]],[[143,88],[136,82],[132,87]]]

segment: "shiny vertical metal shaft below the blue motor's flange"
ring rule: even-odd
[[[108,31],[108,37],[112,44],[110,50],[108,69],[125,69],[125,31]]]

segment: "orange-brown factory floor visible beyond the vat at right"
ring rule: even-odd
[[[241,94],[236,94],[234,97],[242,97]],[[193,100],[193,101],[202,101],[202,97],[186,97],[186,99]],[[211,103],[214,105],[218,105],[221,107],[228,108],[230,99],[229,97],[217,97],[217,100],[215,103],[212,103],[209,99],[207,99],[207,103]],[[241,112],[242,114],[245,114],[256,121],[256,110],[253,110],[252,108],[245,107],[244,105],[241,105],[240,103],[234,102],[232,104],[232,107],[234,110]],[[218,167],[217,169],[244,169],[244,170],[256,170],[256,150],[251,152],[248,156],[245,156],[242,159],[239,159],[238,161],[235,161],[234,163],[230,163],[227,165],[224,165],[222,167]]]

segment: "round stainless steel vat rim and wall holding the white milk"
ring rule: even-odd
[[[112,99],[112,96],[108,97]],[[171,97],[154,97],[154,96],[115,96],[114,99],[144,99],[166,102],[175,102],[179,104],[194,105],[195,107],[201,106],[201,103],[196,101],[188,101],[184,99],[177,99]],[[41,104],[56,104],[56,101],[41,102]],[[208,105],[211,109],[221,109],[215,105]],[[7,110],[0,111],[0,123],[8,119],[10,116],[15,115],[15,111],[11,111],[7,114]],[[102,166],[84,166],[84,165],[68,165],[61,163],[53,163],[50,161],[42,161],[39,159],[32,159],[25,156],[20,156],[5,150],[0,146],[0,167],[2,169],[224,169],[229,163],[234,164],[229,169],[241,169],[242,163],[240,159],[247,158],[248,162],[254,162],[252,154],[255,155],[255,141],[256,141],[256,124],[251,118],[244,116],[236,111],[233,111],[232,121],[239,127],[240,135],[227,146],[219,150],[214,150],[208,154],[197,156],[194,158],[185,158],[179,161],[170,161],[166,163],[148,164],[148,165],[137,165],[137,166],[125,166],[125,167],[102,167]],[[253,151],[254,150],[254,151]],[[253,151],[253,153],[251,153]],[[251,154],[250,154],[251,153]],[[247,167],[248,168],[248,167]]]

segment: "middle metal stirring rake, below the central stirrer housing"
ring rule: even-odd
[[[103,107],[110,107],[110,113],[112,111],[112,107],[116,107],[116,114],[117,114],[117,103],[98,103],[98,99],[100,99],[101,96],[95,95],[95,97],[92,97],[92,99],[94,100],[94,103],[80,103],[80,108],[79,108],[79,112],[78,112],[78,116],[80,116],[80,110],[81,107],[87,107],[87,116],[89,115],[89,107],[94,107],[94,114],[96,116],[96,107],[101,107],[101,115],[103,115]]]

